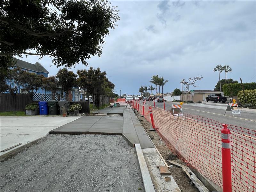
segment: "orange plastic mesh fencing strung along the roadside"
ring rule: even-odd
[[[135,104],[132,107],[134,107]],[[151,123],[145,104],[144,117]],[[142,114],[142,103],[139,107]],[[162,108],[152,108],[156,131],[166,145],[187,165],[222,187],[222,124],[201,116],[171,116]],[[256,131],[228,125],[231,132],[231,173],[233,191],[256,188]]]

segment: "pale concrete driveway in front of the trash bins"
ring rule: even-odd
[[[0,152],[0,156],[44,137],[50,130],[80,117],[61,116],[0,116],[0,151],[21,143],[19,146]]]

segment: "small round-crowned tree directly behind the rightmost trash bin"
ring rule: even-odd
[[[76,86],[76,77],[77,75],[73,73],[73,71],[68,71],[68,69],[60,69],[56,75],[58,78],[58,84],[63,88],[66,92],[65,99],[68,100],[68,91]]]

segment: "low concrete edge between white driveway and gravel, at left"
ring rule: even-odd
[[[0,156],[0,162],[6,161],[7,159],[12,158],[13,156],[17,155],[20,151],[23,151],[24,149],[34,145],[35,143],[39,142],[40,140],[45,139],[45,137],[47,135],[49,135],[49,133],[50,132],[48,132],[44,136],[42,136],[42,137],[40,137],[40,138],[38,138],[36,140],[30,141],[30,142],[28,142],[28,143],[26,143],[24,145],[21,145],[21,146],[19,145],[19,146],[17,146],[17,148],[10,149],[9,152],[7,152],[7,153],[5,153],[5,154]]]

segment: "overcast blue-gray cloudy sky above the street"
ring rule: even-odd
[[[111,1],[111,0],[110,0]],[[120,21],[110,31],[101,57],[89,60],[107,72],[116,93],[139,94],[151,76],[169,82],[164,92],[181,88],[180,81],[203,76],[190,89],[213,90],[219,80],[216,65],[230,65],[228,78],[255,82],[255,1],[111,1]],[[37,56],[21,58],[31,63]],[[50,75],[59,68],[52,60],[39,60]],[[82,64],[70,70],[88,68]],[[254,77],[253,77],[254,76]],[[221,73],[225,78],[225,73]]]

